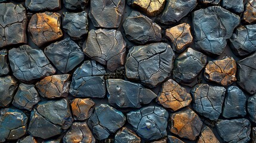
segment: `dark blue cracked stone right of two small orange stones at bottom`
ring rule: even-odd
[[[102,140],[115,133],[125,124],[126,117],[121,111],[107,104],[95,107],[94,113],[88,120],[88,126],[96,139]]]

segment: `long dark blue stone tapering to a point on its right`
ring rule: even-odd
[[[109,104],[113,107],[140,108],[141,104],[149,104],[157,95],[144,88],[140,83],[132,83],[122,79],[107,79]]]

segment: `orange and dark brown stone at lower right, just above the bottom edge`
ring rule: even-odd
[[[199,136],[202,128],[201,119],[190,108],[171,114],[169,123],[172,133],[192,141]]]

